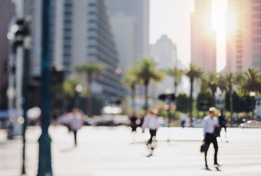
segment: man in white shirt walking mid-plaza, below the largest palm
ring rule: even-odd
[[[151,137],[150,137],[149,141],[147,142],[147,144],[151,144],[153,136],[155,136],[155,138],[156,138],[156,132],[157,132],[157,129],[159,128],[159,124],[157,122],[158,110],[156,108],[154,108],[154,109],[150,109],[149,111],[150,111],[150,113],[144,117],[144,121],[141,125],[142,132],[144,132],[146,127],[148,127],[150,129]]]

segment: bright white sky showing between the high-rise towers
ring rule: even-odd
[[[228,0],[212,0],[212,29],[217,34],[217,72],[226,66],[226,6]],[[167,34],[177,44],[177,57],[190,63],[190,15],[194,0],[150,0],[150,44]]]

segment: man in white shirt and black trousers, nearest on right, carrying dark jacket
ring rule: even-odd
[[[203,119],[203,129],[204,129],[204,142],[205,142],[205,166],[207,167],[207,150],[209,149],[210,143],[213,143],[215,154],[214,154],[214,165],[216,167],[220,166],[217,163],[217,138],[214,136],[214,130],[218,127],[218,118],[215,116],[216,108],[209,108],[209,115]]]

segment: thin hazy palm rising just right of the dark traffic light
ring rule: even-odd
[[[175,67],[174,69],[167,69],[166,70],[167,75],[172,76],[174,78],[174,96],[176,97],[174,100],[174,104],[177,104],[177,86],[178,84],[181,82],[182,77],[185,74],[184,70],[181,69],[177,69],[177,67]],[[174,119],[176,116],[176,111],[174,113]]]

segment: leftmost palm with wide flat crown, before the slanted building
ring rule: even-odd
[[[87,76],[87,114],[92,115],[92,90],[91,83],[93,76],[102,74],[106,70],[107,66],[99,62],[87,62],[84,64],[76,65],[74,70],[79,74],[85,74]]]

